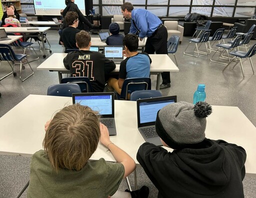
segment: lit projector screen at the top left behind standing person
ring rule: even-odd
[[[84,0],[75,0],[78,8],[85,15]],[[66,7],[65,0],[34,0],[36,15],[60,15],[60,9]]]

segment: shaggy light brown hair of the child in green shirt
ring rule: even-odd
[[[77,103],[54,115],[42,144],[56,172],[80,170],[96,150],[99,137],[97,112]]]

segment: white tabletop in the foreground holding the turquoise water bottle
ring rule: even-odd
[[[44,123],[56,110],[71,103],[71,97],[27,96],[0,117],[0,153],[31,156],[35,151],[42,149]],[[115,100],[114,104],[117,135],[110,136],[110,139],[138,163],[136,152],[144,139],[137,130],[136,102]],[[255,126],[238,107],[212,106],[212,110],[211,115],[207,117],[206,137],[224,139],[242,146],[247,153],[246,174],[256,176]],[[115,161],[112,154],[106,150],[99,143],[91,159],[103,157],[108,161]]]

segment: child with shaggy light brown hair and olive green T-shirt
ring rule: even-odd
[[[110,141],[107,127],[88,106],[66,106],[44,127],[44,150],[31,157],[28,198],[108,197],[116,192],[122,178],[135,169],[134,160]],[[89,160],[99,141],[117,162]],[[134,195],[140,193],[148,195],[148,188],[118,192],[119,197],[137,197]]]

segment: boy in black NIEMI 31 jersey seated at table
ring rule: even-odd
[[[102,92],[105,86],[105,75],[115,68],[115,63],[104,54],[90,51],[90,34],[81,30],[75,35],[78,51],[69,52],[63,59],[66,69],[71,76],[87,76],[91,80],[94,92]]]

